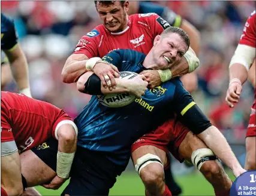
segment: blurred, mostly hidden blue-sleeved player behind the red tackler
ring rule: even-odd
[[[191,38],[191,48],[193,48],[195,54],[199,55],[200,51],[200,32],[193,26],[188,20],[182,19],[178,14],[174,13],[168,7],[157,4],[156,2],[146,1],[129,1],[128,15],[131,14],[146,14],[156,13],[165,19],[171,26],[180,27],[185,30],[189,38]],[[145,73],[144,73],[145,74]],[[145,75],[146,76],[146,75]],[[197,89],[197,74],[195,72],[183,75],[181,81],[184,88],[191,93]],[[171,158],[171,157],[170,157]],[[182,192],[180,186],[175,182],[171,167],[164,171],[165,183],[174,195],[179,195]]]

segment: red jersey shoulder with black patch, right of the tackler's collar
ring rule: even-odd
[[[138,18],[149,25],[153,38],[160,35],[164,29],[171,25],[156,13],[138,14]]]

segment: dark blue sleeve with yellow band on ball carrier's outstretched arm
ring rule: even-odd
[[[194,134],[199,134],[210,127],[210,120],[203,114],[200,108],[192,99],[192,96],[185,90],[179,79],[174,80],[176,89],[174,92],[174,109],[176,114]]]

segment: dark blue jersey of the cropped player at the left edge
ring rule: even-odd
[[[1,50],[13,50],[17,39],[13,20],[1,13]]]

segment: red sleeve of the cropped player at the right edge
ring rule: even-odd
[[[243,27],[243,34],[240,38],[239,44],[248,45],[251,47],[256,47],[256,14],[255,10],[248,18]]]

